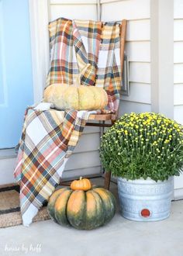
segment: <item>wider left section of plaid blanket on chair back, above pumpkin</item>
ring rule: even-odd
[[[102,22],[60,18],[50,22],[50,72],[47,86],[73,85],[78,74],[82,85],[95,85]]]

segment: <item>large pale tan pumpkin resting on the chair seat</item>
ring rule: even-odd
[[[95,86],[55,84],[45,89],[43,101],[54,103],[60,110],[96,110],[107,106],[108,95]]]

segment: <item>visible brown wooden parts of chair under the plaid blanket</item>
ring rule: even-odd
[[[125,41],[126,41],[126,19],[123,19],[121,22],[121,28],[120,28],[120,61],[121,61],[121,72],[123,74],[123,61],[124,61],[124,48],[125,48]],[[112,114],[91,114],[89,116],[89,121],[102,121],[102,123],[86,123],[86,126],[95,126],[95,127],[111,127],[115,122],[116,119],[118,118],[118,111],[116,113]],[[108,121],[108,123],[105,123]],[[110,123],[109,123],[110,121]],[[110,180],[111,180],[111,172],[107,171],[105,172],[105,184],[104,187],[105,189],[109,189],[110,185]],[[69,185],[67,182],[61,182],[60,185]]]

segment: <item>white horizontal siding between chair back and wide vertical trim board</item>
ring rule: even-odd
[[[119,114],[150,111],[150,1],[101,2],[102,20],[128,20],[125,52],[129,56],[130,95],[122,95]]]

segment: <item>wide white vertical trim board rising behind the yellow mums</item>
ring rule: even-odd
[[[150,19],[152,111],[173,119],[174,1],[151,0]]]

